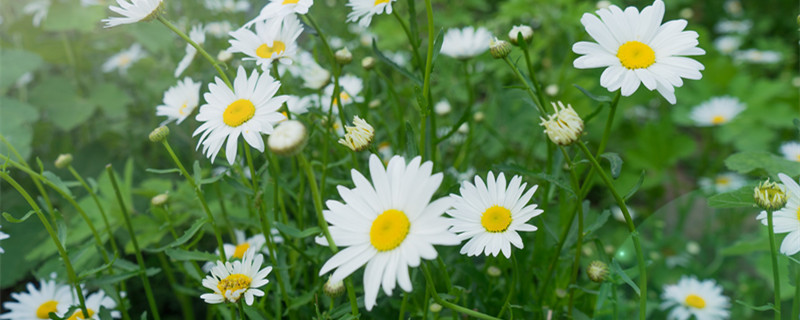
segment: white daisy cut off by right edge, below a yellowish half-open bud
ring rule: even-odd
[[[775,233],[789,233],[783,238],[780,252],[791,256],[800,252],[800,185],[791,177],[779,173],[786,190],[786,206],[772,214],[772,222]],[[761,223],[767,225],[767,212],[761,211],[756,217]]]

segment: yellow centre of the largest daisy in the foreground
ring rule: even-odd
[[[378,215],[369,228],[369,242],[378,251],[397,248],[408,235],[411,222],[403,211],[389,209]]]

